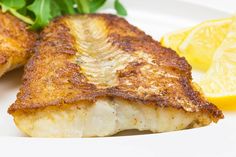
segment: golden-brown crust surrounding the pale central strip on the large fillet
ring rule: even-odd
[[[68,25],[68,21],[80,18],[103,21],[111,45],[131,55],[144,52],[151,56],[151,63],[144,58],[130,61],[116,71],[115,86],[101,88],[89,82],[75,62],[77,43]],[[41,33],[41,42],[25,68],[23,86],[9,113],[108,96],[187,112],[207,112],[215,121],[223,118],[222,112],[207,102],[191,81],[191,67],[184,58],[126,20],[108,14],[67,16],[56,19]]]

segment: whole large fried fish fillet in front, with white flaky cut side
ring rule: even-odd
[[[42,33],[9,108],[33,137],[166,132],[223,118],[174,51],[109,14],[65,16]]]

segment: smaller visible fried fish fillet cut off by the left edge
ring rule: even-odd
[[[27,24],[0,11],[0,77],[26,63],[32,55],[36,33]]]

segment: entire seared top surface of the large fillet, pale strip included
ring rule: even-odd
[[[223,118],[193,87],[184,58],[113,15],[67,16],[52,22],[41,34],[23,81],[11,114],[119,97],[204,113],[213,121]]]

